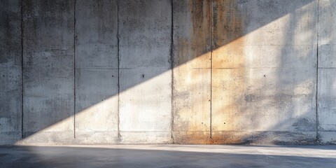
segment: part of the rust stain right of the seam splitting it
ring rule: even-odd
[[[211,143],[239,144],[246,67],[244,17],[237,1],[214,1],[213,37]]]

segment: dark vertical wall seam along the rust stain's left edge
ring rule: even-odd
[[[173,125],[174,125],[174,58],[173,58],[173,48],[174,48],[174,2],[173,0],[170,1],[171,3],[171,8],[172,8],[172,28],[171,28],[171,33],[170,33],[170,38],[171,38],[171,43],[170,43],[170,66],[172,69],[172,125],[171,125],[171,129],[172,129],[172,142],[174,142],[174,137],[173,137]]]

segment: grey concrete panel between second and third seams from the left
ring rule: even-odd
[[[76,116],[78,144],[118,141],[117,1],[76,2]]]

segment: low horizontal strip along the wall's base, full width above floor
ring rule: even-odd
[[[148,143],[150,142],[150,143]],[[336,132],[38,132],[21,139],[20,132],[0,134],[1,145],[102,145],[102,144],[251,144],[329,145],[336,144]]]

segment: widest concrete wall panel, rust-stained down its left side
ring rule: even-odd
[[[316,6],[215,1],[213,143],[315,143]]]

